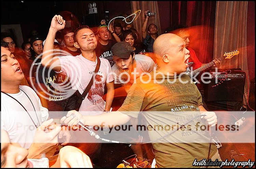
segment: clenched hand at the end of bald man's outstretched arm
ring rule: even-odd
[[[77,125],[79,121],[85,124],[82,114],[75,110],[68,111],[68,114],[60,119],[61,124],[68,125],[70,127]]]

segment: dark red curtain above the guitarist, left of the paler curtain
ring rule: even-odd
[[[211,62],[213,60],[216,2],[171,1],[170,3],[170,26],[176,24],[189,26],[189,47],[195,50],[202,63]]]

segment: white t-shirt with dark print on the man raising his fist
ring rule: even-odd
[[[69,77],[72,89],[78,90],[82,94],[94,74],[97,59],[96,62],[93,62],[84,58],[82,54],[58,58],[61,64],[61,71]],[[100,58],[100,61],[100,69],[96,79],[79,109],[80,111],[87,111],[83,112],[83,115],[98,115],[103,112],[105,101],[102,96],[105,83],[114,80],[109,61],[104,58]]]

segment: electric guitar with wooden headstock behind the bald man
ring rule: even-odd
[[[218,60],[220,60],[220,61],[222,61],[222,60],[224,60],[224,59],[231,59],[233,56],[235,56],[235,55],[238,55],[239,54],[239,51],[238,50],[234,50],[234,51],[231,51],[231,52],[225,52],[225,54],[222,56],[222,57],[220,57],[220,58],[218,58]],[[207,68],[210,68],[211,66],[213,66],[215,63],[214,63],[214,61],[211,61],[210,63],[207,63],[207,64],[205,64],[205,65],[203,65],[202,67],[200,67],[200,68],[198,68],[198,69],[196,69],[196,70],[194,70],[194,71],[190,71],[190,69],[189,68],[187,68],[187,70],[186,70],[186,74],[188,75],[188,76],[194,76],[194,75],[196,75],[197,73],[199,73],[199,72],[202,72],[203,70],[205,70],[205,69],[207,69]]]

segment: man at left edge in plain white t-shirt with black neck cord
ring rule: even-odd
[[[53,119],[47,120],[48,110],[42,107],[37,94],[30,87],[19,85],[23,78],[19,62],[1,46],[1,129],[8,131],[11,142],[28,149],[29,158],[53,155],[61,127],[44,131]]]

